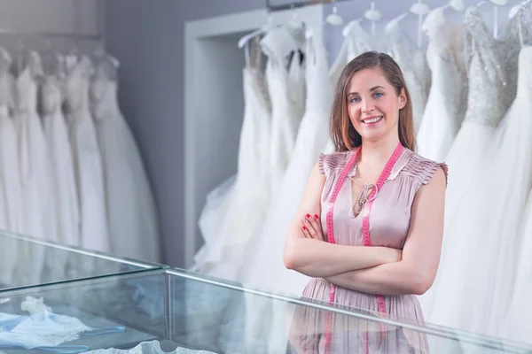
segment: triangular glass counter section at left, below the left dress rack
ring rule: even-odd
[[[162,266],[0,232],[0,291]]]

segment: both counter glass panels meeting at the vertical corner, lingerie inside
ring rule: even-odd
[[[24,331],[15,337],[19,326]],[[176,269],[0,290],[0,328],[0,351],[6,353],[532,352],[525,344],[306,302]]]

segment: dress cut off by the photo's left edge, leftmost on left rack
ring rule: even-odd
[[[20,190],[19,140],[10,112],[14,108],[14,78],[9,68],[12,59],[7,50],[0,48],[5,62],[0,67],[0,228],[18,233],[22,231],[22,197]],[[17,265],[18,242],[3,237],[0,258],[0,279],[10,283]]]

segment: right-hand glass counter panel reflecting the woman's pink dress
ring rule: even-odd
[[[532,346],[168,270],[171,338],[215,352],[526,353]],[[332,324],[332,327],[331,327]],[[325,350],[325,346],[328,350]]]

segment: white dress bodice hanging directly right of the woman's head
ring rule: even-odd
[[[385,28],[387,39],[387,52],[403,72],[406,87],[410,93],[414,130],[417,132],[423,119],[423,112],[426,105],[426,82],[425,67],[422,61],[414,60],[418,51],[408,48],[408,42],[404,40],[405,35],[399,26],[399,18],[388,22]]]

